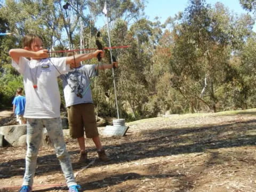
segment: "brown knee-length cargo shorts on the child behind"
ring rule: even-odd
[[[99,136],[93,103],[81,103],[67,107],[71,138],[94,138]]]

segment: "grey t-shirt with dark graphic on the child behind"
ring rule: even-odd
[[[95,65],[82,65],[60,76],[63,82],[66,107],[80,103],[93,103],[90,78],[97,75]],[[82,98],[77,97],[77,93],[81,93]]]

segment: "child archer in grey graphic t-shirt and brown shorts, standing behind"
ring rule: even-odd
[[[72,54],[72,53],[70,53]],[[70,55],[69,54],[69,55]],[[90,54],[90,53],[89,53]],[[63,91],[68,111],[69,132],[71,138],[76,138],[80,148],[81,156],[79,163],[87,162],[87,152],[85,150],[85,138],[91,138],[98,150],[101,161],[109,161],[102,148],[97,122],[94,115],[94,105],[90,89],[90,78],[98,75],[98,70],[118,67],[118,62],[102,65],[83,65],[76,62],[76,67],[68,73],[61,75]]]

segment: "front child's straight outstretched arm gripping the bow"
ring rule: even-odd
[[[92,53],[77,54],[77,55],[75,55],[75,61],[76,61],[76,63],[79,63],[84,60],[96,58],[99,53],[100,53],[101,58],[104,57],[104,52],[102,50],[97,50]],[[75,61],[74,61],[74,55],[72,55],[72,56],[67,57],[66,63],[69,65],[72,65],[72,64],[74,65]]]

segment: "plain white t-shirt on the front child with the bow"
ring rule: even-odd
[[[12,60],[12,66],[23,75],[26,92],[24,117],[60,117],[60,92],[57,77],[69,70],[69,65],[66,65],[66,58],[29,61],[20,57],[19,63]],[[37,88],[35,89],[33,85],[36,85]]]

